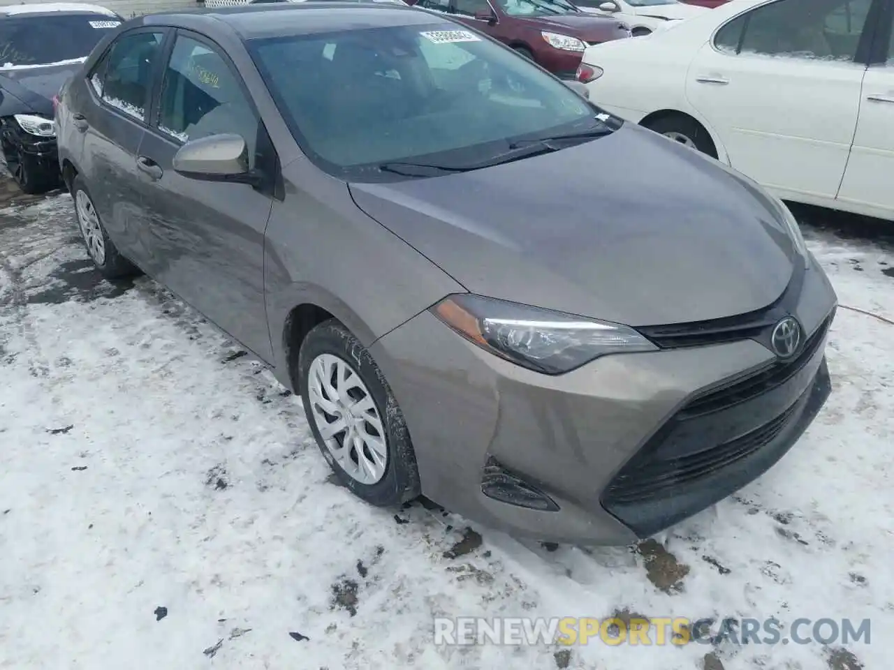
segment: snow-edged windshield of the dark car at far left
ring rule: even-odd
[[[38,67],[86,58],[121,25],[105,14],[22,14],[0,19],[0,69]]]

